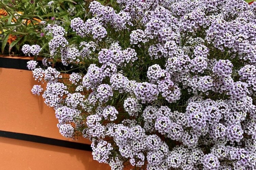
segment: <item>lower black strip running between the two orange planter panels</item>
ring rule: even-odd
[[[79,149],[79,150],[84,150],[84,151],[92,151],[91,146],[88,144],[47,138],[47,137],[36,136],[36,135],[28,135],[28,134],[23,134],[23,133],[0,131],[0,137],[25,140],[25,141],[37,142],[37,143],[44,143],[47,145]]]

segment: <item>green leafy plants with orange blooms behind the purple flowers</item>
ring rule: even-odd
[[[48,54],[48,42],[52,39],[45,27],[58,24],[65,28],[69,38],[74,38],[70,20],[86,19],[90,0],[1,0],[0,47],[2,54],[20,55],[24,44],[38,44],[41,54]],[[108,3],[102,1],[102,3]],[[74,38],[75,39],[75,38]]]

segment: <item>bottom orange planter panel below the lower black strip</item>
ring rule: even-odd
[[[0,137],[1,170],[110,170],[91,152]]]

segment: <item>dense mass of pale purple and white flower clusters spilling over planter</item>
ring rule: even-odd
[[[46,26],[49,61],[71,74],[28,62],[47,83],[32,93],[54,107],[63,136],[89,138],[112,170],[256,169],[255,6],[93,1],[85,20],[71,20],[74,33]]]

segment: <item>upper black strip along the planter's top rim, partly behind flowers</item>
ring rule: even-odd
[[[28,61],[30,60],[0,57],[0,68],[29,70],[27,68]],[[38,61],[38,66],[44,68],[42,61]],[[72,69],[71,66],[64,66],[60,62],[55,63],[54,68],[56,68],[58,71],[67,71]],[[71,74],[72,72],[79,72],[79,70],[73,69],[72,71],[68,71],[67,73]]]

